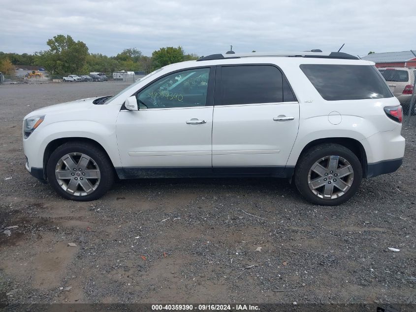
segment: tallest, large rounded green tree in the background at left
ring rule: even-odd
[[[35,53],[35,63],[42,65],[54,75],[79,73],[85,65],[88,47],[82,41],[75,41],[70,35],[56,35],[49,39],[47,51]]]

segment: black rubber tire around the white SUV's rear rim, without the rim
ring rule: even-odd
[[[348,161],[348,163],[352,166],[352,170],[353,170],[353,178],[351,179],[352,182],[351,182],[350,188],[347,189],[346,192],[340,195],[339,197],[332,198],[332,199],[325,199],[325,198],[318,196],[309,188],[309,183],[308,183],[308,175],[312,169],[312,166],[314,166],[316,162],[320,161],[320,159],[328,157],[328,156],[342,157],[344,160]],[[328,174],[328,173],[325,173],[325,174]],[[301,156],[301,158],[299,159],[296,165],[295,172],[294,172],[294,182],[299,193],[308,202],[321,205],[321,206],[337,206],[337,205],[347,202],[349,199],[352,198],[352,196],[358,190],[359,186],[361,185],[361,180],[362,180],[362,167],[357,156],[345,146],[334,144],[334,143],[320,144],[320,145],[313,146],[312,148],[310,148],[306,153],[304,153]],[[325,185],[323,185],[322,187],[325,187]],[[340,191],[336,187],[334,187],[334,189]]]

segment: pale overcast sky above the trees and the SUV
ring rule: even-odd
[[[416,49],[409,0],[0,0],[0,51],[48,49],[54,35],[90,53],[145,55],[182,45],[187,53],[303,51],[354,55]]]

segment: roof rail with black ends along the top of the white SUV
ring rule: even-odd
[[[317,51],[317,52],[315,52]],[[237,59],[245,57],[306,57],[306,58],[325,58],[325,59],[348,59],[358,60],[356,56],[344,52],[318,52],[318,50],[301,51],[301,52],[251,52],[251,53],[235,53],[235,54],[211,54],[197,61],[222,60],[222,59]]]

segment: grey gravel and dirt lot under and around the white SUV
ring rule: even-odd
[[[254,178],[119,181],[100,200],[78,203],[26,172],[27,113],[125,86],[0,86],[0,308],[416,303],[414,130],[403,130],[397,173],[364,180],[334,208],[306,203],[286,180]],[[9,226],[18,226],[10,237]]]

